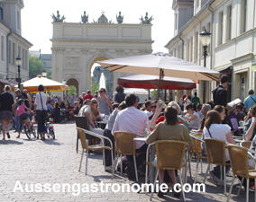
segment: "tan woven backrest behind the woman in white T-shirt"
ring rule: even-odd
[[[206,138],[205,144],[208,163],[224,165],[225,142],[218,139]]]

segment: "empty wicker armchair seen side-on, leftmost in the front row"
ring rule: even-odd
[[[111,157],[112,157],[112,179],[114,178],[114,155],[113,155],[113,145],[112,145],[112,142],[109,138],[107,138],[106,136],[100,136],[96,133],[93,133],[89,130],[86,130],[86,129],[83,129],[83,128],[80,128],[80,127],[77,127],[77,130],[78,130],[78,135],[79,135],[79,138],[80,138],[80,141],[81,141],[81,145],[82,145],[82,148],[83,148],[83,151],[82,151],[82,154],[81,154],[81,161],[80,161],[80,166],[79,166],[79,171],[81,171],[81,165],[82,165],[82,161],[83,161],[83,156],[84,156],[84,152],[85,150],[87,151],[87,160],[86,160],[86,175],[87,175],[87,166],[88,166],[88,155],[89,155],[89,151],[91,150],[104,150],[104,149],[107,149],[107,150],[110,150],[111,151]],[[96,136],[98,138],[101,139],[103,145],[87,145],[87,139],[86,139],[86,135],[87,136]],[[109,146],[105,146],[104,145],[104,142],[105,140],[109,141],[110,143],[110,147]],[[105,166],[105,152],[103,152],[103,163],[104,163],[104,166]]]

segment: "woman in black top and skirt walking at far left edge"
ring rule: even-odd
[[[14,97],[10,93],[11,87],[10,85],[5,85],[5,92],[0,95],[0,119],[2,121],[2,129],[3,129],[3,140],[5,140],[5,132],[8,138],[9,135],[9,127],[10,122],[13,119],[13,104]]]

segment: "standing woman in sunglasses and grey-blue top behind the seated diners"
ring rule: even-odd
[[[101,114],[110,115],[110,109],[113,111],[110,99],[105,95],[105,88],[99,90],[99,97],[97,99],[99,111]]]

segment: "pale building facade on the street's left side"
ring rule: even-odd
[[[23,0],[0,1],[0,92],[3,90],[3,84],[16,83],[18,71],[15,58],[18,56],[23,61],[22,81],[29,79],[29,48],[32,43],[22,37],[23,7]]]

